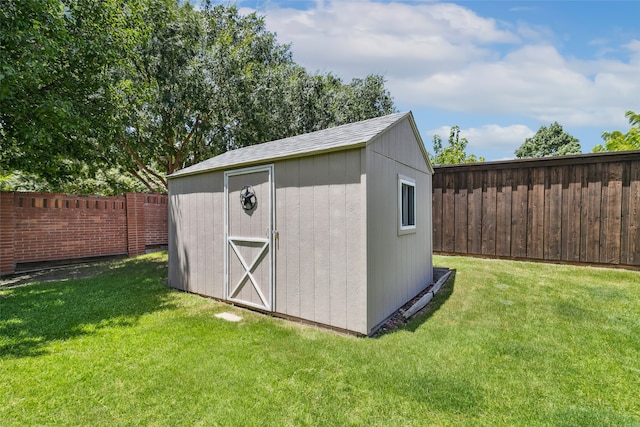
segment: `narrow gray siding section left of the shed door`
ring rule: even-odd
[[[224,296],[222,172],[169,180],[169,284]]]

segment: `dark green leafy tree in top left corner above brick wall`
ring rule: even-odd
[[[59,183],[95,166],[139,10],[137,0],[2,1],[0,170]]]

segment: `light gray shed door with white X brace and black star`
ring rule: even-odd
[[[228,171],[225,181],[226,299],[273,309],[273,166]]]

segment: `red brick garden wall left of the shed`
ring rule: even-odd
[[[167,244],[167,196],[0,193],[0,274],[23,263],[139,255]]]

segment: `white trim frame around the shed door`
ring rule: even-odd
[[[273,226],[275,218],[275,183],[273,179],[273,164],[252,166],[242,169],[234,169],[224,171],[224,299],[227,301],[233,301],[240,304],[259,308],[261,310],[275,311],[275,253],[273,250]],[[269,262],[269,304],[267,306],[260,306],[252,304],[243,300],[231,299],[229,296],[229,238],[234,237],[229,235],[229,177],[236,175],[247,175],[256,172],[267,172],[268,175],[268,187],[269,187],[269,225],[266,230],[268,234],[267,247],[269,250],[268,262]]]

